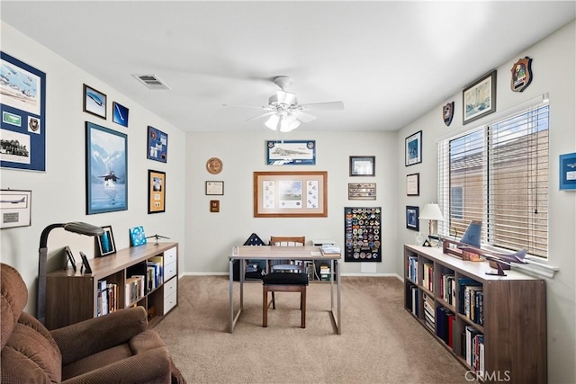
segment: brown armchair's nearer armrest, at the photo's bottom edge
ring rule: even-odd
[[[63,384],[169,383],[170,356],[166,347],[157,347],[94,371],[62,381]]]

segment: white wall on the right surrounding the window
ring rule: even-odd
[[[397,211],[399,222],[399,241],[396,252],[401,255],[402,244],[413,243],[413,232],[402,229],[402,207],[437,201],[437,140],[446,138],[463,129],[472,129],[491,121],[499,112],[513,109],[515,105],[527,102],[545,93],[550,95],[550,188],[549,188],[549,255],[550,263],[560,267],[554,279],[546,280],[547,290],[547,321],[548,321],[548,378],[552,383],[568,383],[576,381],[576,192],[559,191],[558,156],[572,153],[576,150],[576,121],[574,108],[576,95],[576,22],[571,22],[536,45],[518,52],[509,61],[498,67],[497,79],[497,112],[482,120],[474,121],[463,127],[462,124],[462,94],[455,94],[445,103],[421,116],[417,121],[398,131],[397,147],[404,145],[404,138],[423,131],[423,162],[419,165],[405,167],[403,152],[396,158],[399,180],[407,174],[420,173],[420,196],[407,197],[402,183],[398,183]],[[510,68],[524,57],[533,58],[532,84],[523,93],[510,90]],[[465,63],[463,63],[465,65]],[[486,68],[489,72],[493,68]],[[483,74],[478,74],[482,76]],[[470,79],[473,81],[474,79]],[[449,81],[447,84],[452,86]],[[462,85],[464,88],[465,84]],[[455,117],[450,127],[446,127],[441,118],[442,106],[455,102]],[[420,226],[427,226],[427,220],[422,220]],[[426,228],[426,227],[425,227]],[[396,264],[396,272],[401,275],[400,259]]]

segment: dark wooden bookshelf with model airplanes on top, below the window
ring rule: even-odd
[[[418,261],[412,268],[412,272],[418,271],[417,279],[410,272],[410,259]],[[429,274],[432,282],[428,287],[424,281],[425,263],[432,267]],[[404,246],[404,308],[470,371],[476,370],[466,360],[466,327],[483,335],[484,369],[467,373],[469,378],[483,382],[547,382],[545,281],[514,270],[506,271],[507,276],[487,275],[485,272],[489,271],[495,270],[486,261],[464,261],[443,254],[442,248]],[[443,275],[455,276],[455,291],[444,298]],[[461,297],[460,286],[468,284],[464,280],[459,284],[460,279],[472,279],[478,284],[473,290],[482,290],[482,325],[464,314],[465,295]],[[415,290],[418,291],[416,303],[412,299]],[[442,324],[435,321],[434,331],[427,326],[424,294],[434,299],[435,315],[437,310],[455,314],[452,347],[444,341],[449,335],[441,337]],[[454,298],[452,303],[450,296]],[[418,308],[417,314],[412,308]]]

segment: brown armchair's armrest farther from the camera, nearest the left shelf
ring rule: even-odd
[[[126,343],[131,337],[147,328],[146,309],[136,307],[120,309],[102,317],[63,326],[50,333],[62,353],[62,364],[67,365],[112,346]]]

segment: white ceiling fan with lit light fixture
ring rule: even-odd
[[[296,94],[286,91],[286,88],[292,85],[292,79],[288,76],[276,76],[274,83],[280,87],[280,91],[276,91],[276,94],[268,98],[268,105],[261,107],[267,112],[250,118],[247,121],[269,116],[265,122],[266,127],[279,130],[280,132],[289,132],[298,128],[301,122],[310,122],[316,119],[316,116],[306,113],[305,111],[334,111],[344,109],[344,103],[342,102],[299,104],[296,99]]]

